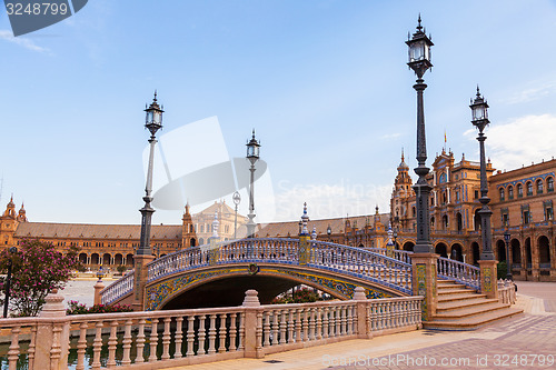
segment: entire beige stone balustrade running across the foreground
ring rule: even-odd
[[[0,319],[9,369],[163,369],[421,328],[420,296],[368,300],[358,287],[349,301],[260,306],[257,294],[240,307],[83,316],[50,294],[38,318]]]

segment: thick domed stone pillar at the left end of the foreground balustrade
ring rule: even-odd
[[[53,289],[46,298],[47,303],[39,313],[34,349],[34,369],[58,370],[68,368],[69,322],[66,317],[63,297]],[[50,319],[50,320],[49,320]]]

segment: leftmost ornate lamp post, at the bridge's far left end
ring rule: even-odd
[[[150,154],[149,154],[149,168],[147,170],[147,184],[145,187],[145,197],[142,200],[145,201],[143,208],[139,211],[141,212],[141,240],[139,243],[139,248],[137,249],[137,256],[150,256],[150,223],[152,213],[155,213],[155,209],[150,206],[152,202],[152,162],[155,159],[155,144],[157,143],[156,133],[159,129],[162,128],[162,110],[163,107],[160,107],[157,102],[157,92],[155,91],[155,98],[150,103],[149,108],[146,108],[147,117],[145,120],[145,127],[150,131]]]

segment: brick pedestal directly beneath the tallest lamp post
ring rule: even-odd
[[[413,294],[425,297],[421,302],[423,321],[427,321],[436,314],[438,302],[436,291],[437,261],[438,254],[435,253],[411,254]]]

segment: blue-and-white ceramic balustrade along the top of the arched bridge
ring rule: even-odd
[[[361,248],[310,240],[302,263],[327,271],[355,274],[404,293],[411,292],[411,264]],[[215,246],[188,248],[148,264],[148,281],[211,264],[300,264],[298,239],[242,239]],[[119,283],[119,282],[116,282]],[[107,301],[109,302],[109,301]]]

